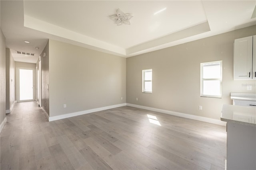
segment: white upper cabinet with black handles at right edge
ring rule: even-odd
[[[234,80],[256,80],[256,36],[234,42]]]

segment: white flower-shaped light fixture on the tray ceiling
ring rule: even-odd
[[[109,16],[109,18],[114,20],[118,26],[122,24],[130,25],[130,19],[132,17],[133,16],[129,13],[124,14],[124,12],[122,12],[119,8],[116,10],[116,14]]]

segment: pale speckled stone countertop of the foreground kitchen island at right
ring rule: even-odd
[[[256,107],[224,104],[220,120],[256,127]]]

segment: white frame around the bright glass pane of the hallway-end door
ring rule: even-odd
[[[33,70],[33,99],[32,100],[20,100],[20,69],[23,70]],[[16,70],[17,73],[17,102],[30,102],[30,101],[35,101],[35,84],[36,84],[36,78],[35,78],[35,69],[34,68],[25,68],[25,67],[17,67]]]

